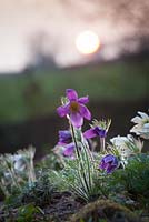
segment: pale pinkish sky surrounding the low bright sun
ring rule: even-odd
[[[141,30],[135,23],[143,18],[149,1],[135,0],[136,4],[129,6],[135,21],[131,16],[130,21],[122,14],[119,18],[121,12],[117,10],[117,1],[0,0],[0,72],[26,68],[32,59],[32,42],[38,42],[41,36],[43,51],[51,53],[59,65],[86,59],[74,44],[76,37],[83,30],[92,30],[98,34],[102,57],[117,57],[122,47],[128,47],[122,42],[125,38],[139,32],[149,34],[145,22],[140,26]],[[119,7],[122,9],[123,6]],[[137,41],[131,42],[131,50],[137,47]]]

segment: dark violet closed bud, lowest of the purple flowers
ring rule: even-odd
[[[101,159],[99,168],[107,173],[112,173],[118,168],[119,161],[116,155],[107,154]]]

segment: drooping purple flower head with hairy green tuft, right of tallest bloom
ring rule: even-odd
[[[102,121],[95,120],[92,121],[91,128],[83,133],[83,137],[87,139],[95,137],[106,138],[110,123],[111,123],[110,120],[108,120],[107,122],[105,120]]]

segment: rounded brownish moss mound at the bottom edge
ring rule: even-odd
[[[138,215],[126,206],[110,200],[97,200],[88,203],[78,213],[73,214],[70,222],[140,222]]]

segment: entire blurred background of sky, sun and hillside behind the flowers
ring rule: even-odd
[[[149,108],[148,21],[148,0],[0,0],[0,153],[49,152],[67,88],[126,135]]]

